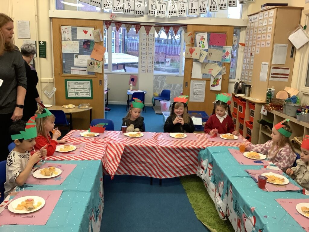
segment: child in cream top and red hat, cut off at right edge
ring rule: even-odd
[[[286,174],[309,191],[309,135],[304,137],[300,149],[302,153],[300,154],[300,159],[296,161],[297,166],[288,168]]]

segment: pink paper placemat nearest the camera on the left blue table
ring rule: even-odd
[[[5,208],[2,213],[0,213],[0,225],[45,225],[52,214],[61,193],[62,190],[19,191],[13,200],[23,196],[40,196],[45,200],[45,205],[41,209],[27,214],[11,213]]]

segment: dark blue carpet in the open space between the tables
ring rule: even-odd
[[[104,210],[101,231],[208,232],[197,220],[179,178],[154,179],[104,176]]]

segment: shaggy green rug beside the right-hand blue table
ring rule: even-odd
[[[235,231],[230,221],[223,221],[214,206],[201,178],[196,175],[182,176],[180,181],[187,193],[197,219],[211,232]]]

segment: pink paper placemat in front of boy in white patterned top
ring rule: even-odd
[[[76,167],[76,164],[54,164],[54,163],[44,163],[39,167],[39,169],[42,168],[50,168],[50,167],[56,167],[59,168],[62,172],[59,176],[53,177],[53,178],[35,178],[32,174],[27,178],[26,184],[43,184],[43,185],[58,185],[62,184],[65,179],[68,177],[68,175],[71,174],[71,172]]]

